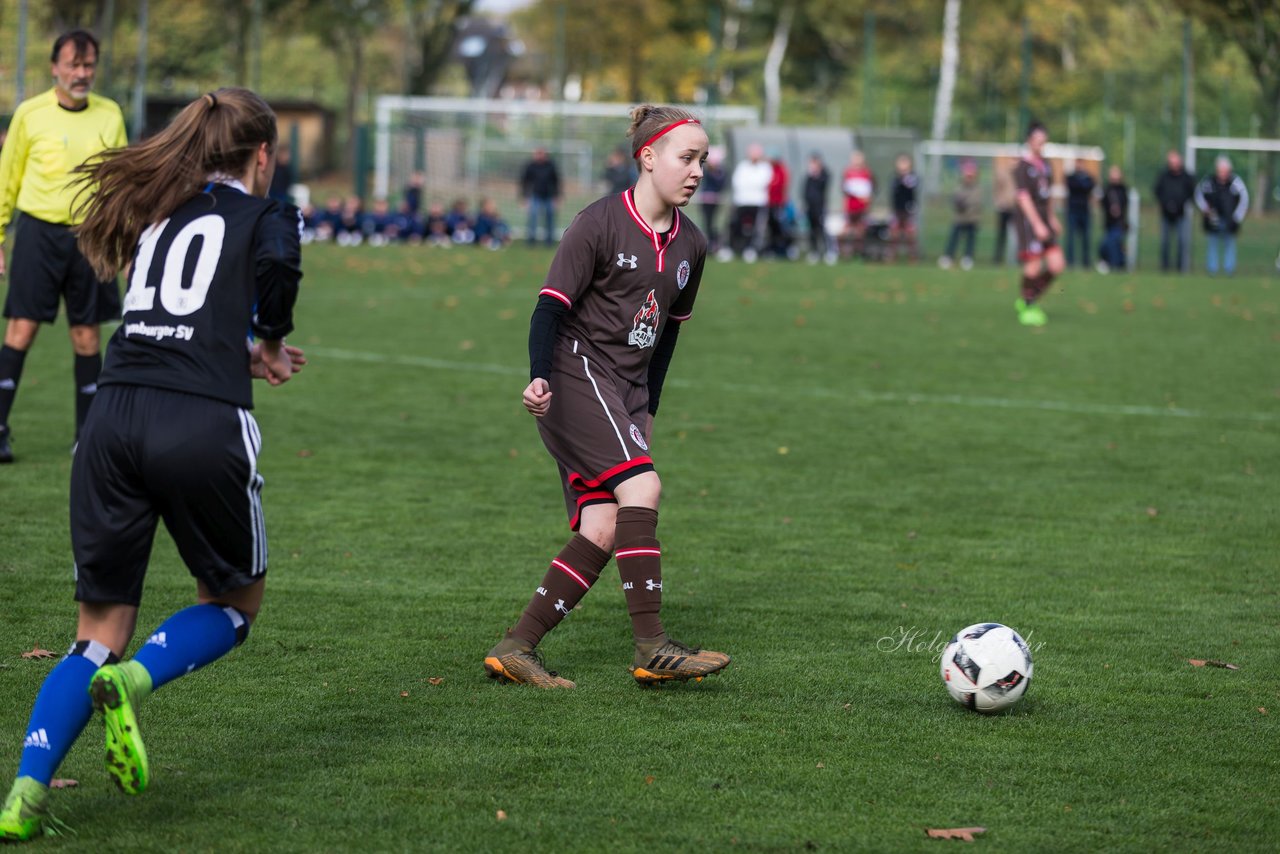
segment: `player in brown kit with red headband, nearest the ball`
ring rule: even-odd
[[[707,133],[678,108],[639,106],[627,133],[640,177],[564,232],[530,321],[524,403],[559,466],[573,538],[516,626],[484,659],[495,679],[573,688],[535,647],[617,558],[641,684],[701,680],[728,656],[664,631],[653,416],[676,335],[692,314],[707,239],[680,210],[703,175]]]

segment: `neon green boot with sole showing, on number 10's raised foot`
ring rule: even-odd
[[[127,795],[141,795],[151,780],[134,711],[150,689],[151,677],[137,662],[99,667],[88,684],[93,708],[102,713],[106,730],[106,771]]]

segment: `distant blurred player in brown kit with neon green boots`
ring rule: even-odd
[[[1050,204],[1052,174],[1044,161],[1046,142],[1048,131],[1039,122],[1032,122],[1027,129],[1027,154],[1014,166],[1014,184],[1018,187],[1014,224],[1018,229],[1018,260],[1023,264],[1023,296],[1014,307],[1019,323],[1025,326],[1048,323],[1039,298],[1066,266],[1062,248],[1057,245],[1062,225]]]

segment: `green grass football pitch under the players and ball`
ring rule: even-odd
[[[261,620],[145,707],[142,798],[90,730],[41,850],[1275,850],[1280,279],[1068,275],[1029,330],[1006,269],[710,264],[653,444],[666,624],[733,665],[635,686],[611,565],[539,693],[480,659],[566,538],[520,406],[548,261],[308,250]],[[68,351],[0,470],[5,776],[19,654],[72,640]],[[161,535],[136,643],[192,594]],[[996,717],[936,661],[986,620],[1036,654]]]

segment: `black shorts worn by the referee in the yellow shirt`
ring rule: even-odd
[[[120,288],[115,279],[93,274],[69,225],[58,225],[18,213],[9,236],[9,292],[5,318],[52,323],[59,297],[67,302],[67,323],[95,325],[120,316]]]

